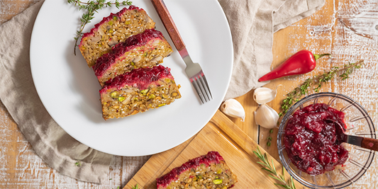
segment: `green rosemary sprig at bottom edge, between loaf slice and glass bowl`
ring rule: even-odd
[[[294,185],[293,178],[290,176],[290,179],[288,181],[285,181],[285,175],[284,175],[284,170],[285,169],[282,168],[282,175],[280,175],[279,173],[277,173],[276,168],[274,167],[273,160],[272,160],[272,165],[270,165],[269,161],[267,159],[267,154],[264,153],[264,155],[262,155],[259,147],[257,147],[257,149],[255,151],[253,151],[253,153],[255,153],[256,156],[262,161],[262,162],[260,162],[260,161],[257,162],[257,164],[260,164],[260,165],[266,167],[266,168],[263,167],[261,169],[265,170],[265,171],[268,171],[269,173],[272,173],[272,174],[269,174],[268,176],[276,179],[279,182],[284,183],[284,184],[274,183],[274,185],[279,185],[279,186],[282,186],[283,188],[287,188],[287,189],[296,189],[295,185]]]

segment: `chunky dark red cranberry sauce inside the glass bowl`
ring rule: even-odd
[[[348,151],[340,146],[342,130],[335,122],[344,124],[345,114],[324,103],[308,105],[296,110],[287,122],[284,145],[291,162],[310,175],[332,171],[344,164]],[[337,127],[337,126],[336,126]]]

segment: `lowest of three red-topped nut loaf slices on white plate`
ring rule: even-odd
[[[181,98],[170,69],[162,65],[116,76],[106,81],[100,96],[105,120],[143,113]]]

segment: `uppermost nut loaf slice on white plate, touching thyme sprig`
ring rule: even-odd
[[[155,28],[155,22],[143,8],[125,7],[118,13],[111,13],[110,16],[103,18],[89,33],[84,33],[79,50],[88,66],[93,67],[96,60],[109,52],[114,45],[152,28]]]

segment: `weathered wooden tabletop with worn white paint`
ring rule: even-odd
[[[0,24],[39,0],[1,0]],[[372,27],[372,23],[374,23]],[[375,26],[377,25],[377,26]],[[374,28],[376,27],[376,28]],[[365,66],[355,71],[350,79],[333,79],[321,91],[343,93],[359,102],[375,125],[378,125],[378,3],[376,0],[326,0],[325,6],[312,16],[274,33],[273,62],[276,67],[295,52],[306,49],[316,54],[332,53],[332,58],[318,60],[315,70],[300,76],[276,79],[266,87],[279,88],[277,98],[268,103],[280,111],[279,104],[285,94],[299,86],[305,79],[323,73],[330,67],[365,60]],[[272,145],[267,147],[269,130],[255,124],[253,113],[257,103],[253,90],[236,98],[245,108],[245,122],[230,118],[252,139],[279,159],[277,129],[272,134]],[[376,128],[377,129],[377,128]],[[121,188],[143,166],[150,156],[113,156],[109,180],[101,185],[77,181],[62,176],[40,159],[23,138],[6,108],[0,103],[0,188]],[[348,188],[378,188],[378,163],[373,161],[362,178]]]

